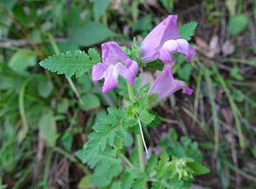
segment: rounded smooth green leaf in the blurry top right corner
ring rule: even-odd
[[[232,16],[229,20],[231,35],[236,36],[247,27],[248,23],[249,21],[245,14],[236,14],[235,16]]]

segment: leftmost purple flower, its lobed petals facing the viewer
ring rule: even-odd
[[[92,80],[101,80],[105,77],[103,93],[117,87],[119,74],[134,85],[138,72],[137,62],[129,59],[117,43],[102,44],[102,62],[93,66]]]

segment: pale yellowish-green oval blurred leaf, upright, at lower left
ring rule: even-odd
[[[49,146],[55,146],[57,128],[55,119],[51,113],[46,112],[40,117],[38,128],[41,130],[43,138],[46,140],[47,144]]]

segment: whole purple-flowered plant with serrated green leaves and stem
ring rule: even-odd
[[[160,117],[152,110],[154,106],[179,89],[184,94],[193,92],[183,81],[174,79],[172,66],[174,53],[184,54],[188,61],[196,56],[195,49],[188,43],[196,25],[190,22],[177,29],[177,16],[169,15],[141,45],[136,40],[131,49],[114,42],[103,43],[102,60],[96,49],[89,49],[87,54],[77,50],[40,62],[44,68],[64,73],[66,77],[81,77],[88,73],[92,80],[104,78],[103,93],[118,88],[119,94],[129,102],[124,109],[108,107],[108,115],[94,125],[89,140],[76,153],[83,163],[94,169],[90,175],[92,185],[122,189],[189,188],[195,175],[210,172],[193,158],[171,158],[165,150],[159,158],[156,154],[149,154],[143,137],[144,129],[160,124]],[[139,88],[139,70],[143,67],[161,71],[151,87]],[[124,140],[128,132],[137,136],[137,146],[127,158]]]

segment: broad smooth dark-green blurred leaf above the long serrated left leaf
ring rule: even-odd
[[[108,27],[100,23],[89,22],[85,23],[84,26],[74,34],[74,40],[83,47],[90,47],[115,35],[116,34],[109,30]]]

